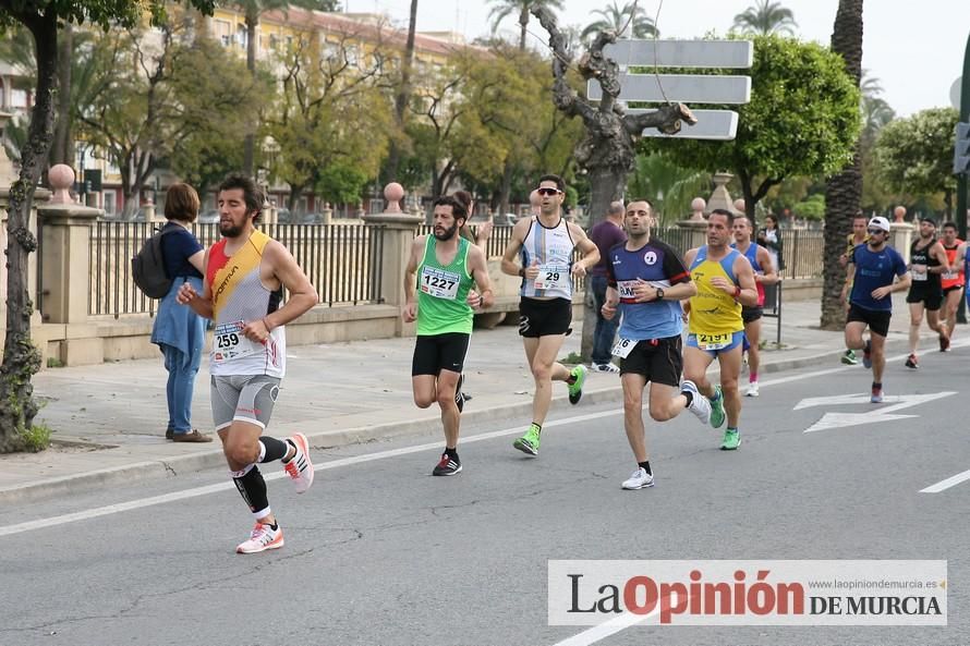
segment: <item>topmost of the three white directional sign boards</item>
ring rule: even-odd
[[[748,69],[754,62],[751,40],[617,40],[603,48],[622,66]]]

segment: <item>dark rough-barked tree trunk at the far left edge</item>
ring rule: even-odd
[[[53,139],[58,69],[58,25],[56,12],[28,16],[25,26],[34,36],[37,51],[37,95],[31,114],[27,145],[21,153],[20,179],[10,187],[9,236],[7,243],[7,334],[3,364],[0,365],[0,453],[27,448],[24,435],[34,425],[39,410],[34,400],[32,377],[40,369],[40,352],[31,342],[31,314],[34,303],[27,291],[27,258],[37,251],[31,233],[34,187],[40,179]]]

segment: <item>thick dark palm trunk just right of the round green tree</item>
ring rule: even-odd
[[[832,50],[841,54],[846,71],[856,80],[858,87],[862,76],[862,0],[839,0],[835,28],[832,33]],[[846,326],[846,308],[841,300],[846,272],[838,258],[846,248],[846,236],[852,228],[852,218],[862,202],[862,162],[859,142],[852,161],[841,172],[829,178],[825,188],[825,251],[822,283],[823,330],[840,330]]]

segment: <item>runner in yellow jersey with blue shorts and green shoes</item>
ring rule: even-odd
[[[696,385],[693,397],[711,400],[714,428],[724,425],[727,411],[728,426],[720,444],[725,451],[733,451],[741,443],[738,427],[741,419],[738,378],[744,339],[741,306],[757,305],[754,269],[743,254],[728,246],[733,219],[730,211],[714,209],[707,218],[707,244],[690,249],[684,256],[691,280],[698,285],[696,295],[684,308],[690,315],[683,349],[684,383]],[[720,365],[720,386],[707,381],[707,367],[715,358]]]

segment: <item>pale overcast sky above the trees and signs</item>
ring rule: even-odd
[[[622,5],[627,0],[618,0]],[[593,11],[610,0],[563,0],[560,24],[581,25],[596,20]],[[342,0],[351,12],[386,13],[407,28],[410,0]],[[726,33],[736,14],[753,0],[666,0],[657,26],[664,38],[694,38],[707,32]],[[781,0],[795,13],[797,34],[827,45],[838,0]],[[453,31],[469,39],[490,32],[489,0],[419,0],[417,28],[422,32]],[[656,16],[658,0],[640,0],[647,14]],[[518,17],[509,17],[500,32],[518,39]],[[869,0],[863,13],[862,66],[880,80],[883,98],[899,115],[925,108],[950,105],[954,81],[962,73],[963,52],[970,35],[970,0]],[[545,36],[535,22],[530,31]],[[543,45],[532,38],[532,46]]]

